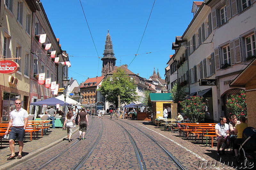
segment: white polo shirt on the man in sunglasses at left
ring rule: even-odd
[[[20,108],[18,112],[14,109],[11,111],[10,116],[12,119],[12,126],[24,126],[24,118],[28,117],[28,112],[23,108]]]

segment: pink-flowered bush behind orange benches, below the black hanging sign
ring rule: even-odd
[[[204,122],[206,102],[199,96],[191,96],[190,99],[179,102],[181,111],[187,115],[191,123]]]

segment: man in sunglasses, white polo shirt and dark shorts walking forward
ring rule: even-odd
[[[7,135],[8,130],[11,128],[11,132],[9,133],[9,145],[10,150],[12,152],[11,156],[7,158],[7,160],[15,159],[15,152],[14,152],[14,143],[13,141],[18,138],[19,141],[19,154],[17,159],[21,159],[21,153],[23,149],[23,140],[25,129],[28,123],[28,112],[21,108],[21,100],[15,100],[15,107],[16,109],[10,113],[10,122],[8,124],[8,128],[5,132]]]

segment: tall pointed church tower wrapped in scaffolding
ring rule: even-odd
[[[105,50],[103,53],[101,76],[106,76],[108,73],[116,69],[116,57],[113,50],[113,44],[109,35],[109,30],[106,38]]]

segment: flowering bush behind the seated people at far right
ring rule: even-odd
[[[232,94],[226,102],[229,115],[236,115],[237,118],[247,116],[246,94],[244,90],[241,90],[240,94]]]

